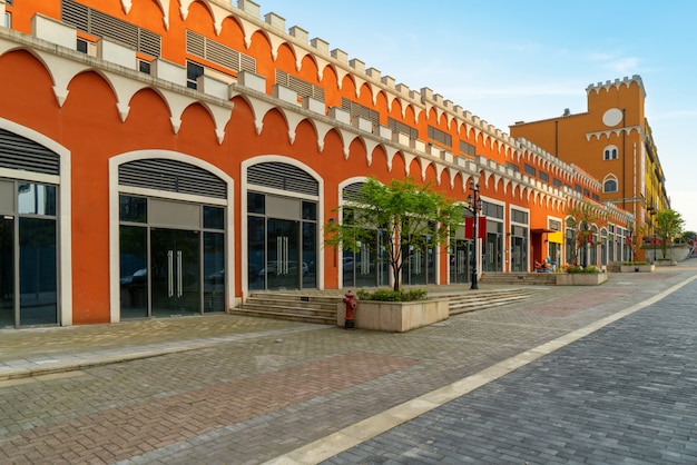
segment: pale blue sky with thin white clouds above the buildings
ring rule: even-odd
[[[412,90],[428,87],[509,133],[587,111],[586,88],[639,75],[671,208],[697,231],[697,2],[255,0],[286,30]]]

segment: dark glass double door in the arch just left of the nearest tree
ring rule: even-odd
[[[266,289],[298,289],[308,265],[300,258],[300,221],[269,218],[266,236],[266,265],[259,276]]]

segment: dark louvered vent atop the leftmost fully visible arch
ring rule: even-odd
[[[175,160],[148,159],[121,165],[119,185],[227,198],[227,186],[220,178],[202,168]]]

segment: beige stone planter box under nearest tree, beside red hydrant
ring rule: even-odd
[[[450,316],[450,300],[428,299],[416,301],[359,300],[354,313],[357,329],[404,333],[428,326]],[[338,304],[336,324],[344,326],[346,307]]]

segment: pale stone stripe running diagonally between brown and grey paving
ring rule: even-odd
[[[295,451],[265,462],[264,465],[315,465],[326,461],[350,449],[351,447],[357,446],[359,444],[372,439],[373,437],[379,436],[380,434],[383,434],[403,423],[414,419],[426,412],[438,408],[458,397],[471,393],[479,387],[494,382],[517,370],[518,368],[537,360],[538,358],[549,355],[554,350],[568,346],[569,344],[603,328],[605,326],[654,305],[696,279],[697,276],[685,279],[684,281],[678,283],[662,293],[659,293],[639,304],[635,304],[580,329],[570,332],[565,336],[541,344],[538,347],[524,350],[513,357],[492,365],[489,368],[482,369],[474,375],[457,380],[450,385],[415,397],[354,425],[340,429],[336,433],[306,444],[303,447],[298,447]]]

